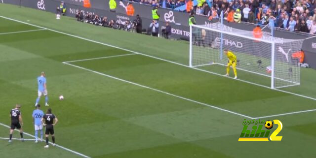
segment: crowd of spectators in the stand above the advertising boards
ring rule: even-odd
[[[270,19],[277,28],[291,32],[316,34],[316,0],[133,0],[162,8],[186,5],[186,12],[219,18],[221,11],[229,22],[267,25]]]

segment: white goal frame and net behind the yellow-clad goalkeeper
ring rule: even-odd
[[[224,75],[228,49],[237,56],[240,80],[273,89],[300,84],[299,59],[293,54],[301,51],[303,39],[273,38],[270,32],[255,38],[250,31],[216,25],[190,27],[190,67]]]

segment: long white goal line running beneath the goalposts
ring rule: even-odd
[[[194,69],[199,70],[199,71],[203,71],[203,72],[211,73],[211,74],[214,74],[214,75],[223,76],[222,74],[218,74],[218,73],[214,73],[214,72],[210,72],[210,71],[202,70],[202,69],[195,68],[195,67],[190,67],[190,66],[185,65],[185,64],[182,64],[182,63],[172,62],[172,61],[169,61],[169,60],[161,59],[161,58],[158,58],[158,57],[150,56],[150,55],[143,54],[143,53],[139,53],[139,52],[136,52],[136,51],[132,51],[132,50],[128,50],[128,49],[124,49],[124,48],[120,48],[120,47],[117,47],[117,46],[114,46],[114,45],[110,45],[110,44],[106,44],[106,43],[98,42],[98,41],[95,41],[95,40],[87,39],[87,38],[84,38],[84,37],[80,37],[80,36],[77,36],[77,35],[69,34],[69,33],[66,33],[66,32],[60,32],[60,31],[56,31],[56,30],[52,30],[52,29],[48,29],[48,28],[44,28],[44,27],[40,27],[40,26],[38,26],[38,25],[34,25],[34,24],[30,24],[30,23],[26,23],[26,22],[23,22],[23,21],[19,21],[19,20],[11,19],[11,18],[4,17],[4,16],[0,16],[0,17],[1,17],[1,18],[4,18],[4,19],[7,19],[7,20],[15,21],[15,22],[18,22],[18,23],[22,23],[22,24],[26,24],[26,25],[34,26],[34,27],[37,27],[37,28],[46,29],[46,30],[49,30],[49,31],[52,31],[52,32],[57,32],[57,33],[61,33],[61,34],[65,34],[65,35],[69,35],[69,36],[72,36],[72,37],[75,37],[75,38],[79,38],[79,39],[83,39],[83,40],[86,40],[86,41],[90,41],[90,42],[93,42],[93,43],[98,43],[98,44],[105,45],[105,46],[108,46],[108,47],[117,48],[117,49],[120,49],[120,50],[123,50],[123,51],[127,51],[127,52],[131,52],[131,53],[135,53],[135,54],[143,55],[143,56],[150,57],[150,58],[154,58],[154,59],[161,60],[161,61],[164,61],[164,62],[174,63],[174,64],[177,64],[177,65],[180,65],[180,66],[189,67],[189,68],[194,68]],[[65,63],[65,64],[72,65],[72,64],[70,64],[70,63]],[[82,68],[83,68],[83,67],[82,67]],[[230,77],[227,77],[227,78],[230,78]],[[234,78],[230,78],[230,79],[234,79]],[[313,98],[313,97],[310,97],[310,96],[306,96],[306,95],[299,95],[299,94],[296,94],[296,93],[292,93],[292,92],[288,92],[288,91],[283,91],[283,90],[279,90],[279,89],[271,89],[271,88],[270,88],[270,87],[268,87],[268,86],[259,85],[259,84],[252,83],[252,82],[249,82],[249,81],[244,81],[244,80],[241,80],[241,79],[236,79],[236,80],[241,81],[241,82],[244,82],[244,83],[248,83],[248,84],[252,84],[252,85],[256,85],[256,86],[260,86],[260,87],[264,87],[264,88],[267,88],[267,89],[270,89],[270,90],[275,90],[275,91],[279,91],[279,92],[287,93],[287,94],[290,94],[290,95],[296,95],[296,96],[300,96],[300,97],[304,97],[304,98],[308,98],[308,99],[316,100],[316,98]],[[225,109],[223,109],[223,110],[225,110]],[[245,115],[244,115],[244,116],[245,116]],[[253,119],[252,117],[247,117],[247,118],[251,118],[251,119]]]

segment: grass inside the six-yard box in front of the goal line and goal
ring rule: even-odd
[[[144,56],[72,64],[251,117],[266,116],[266,108],[277,107],[273,114],[314,108],[313,100],[239,83],[221,76],[207,75],[204,72]],[[278,102],[279,98],[283,101]],[[305,103],[301,104],[302,102]]]

